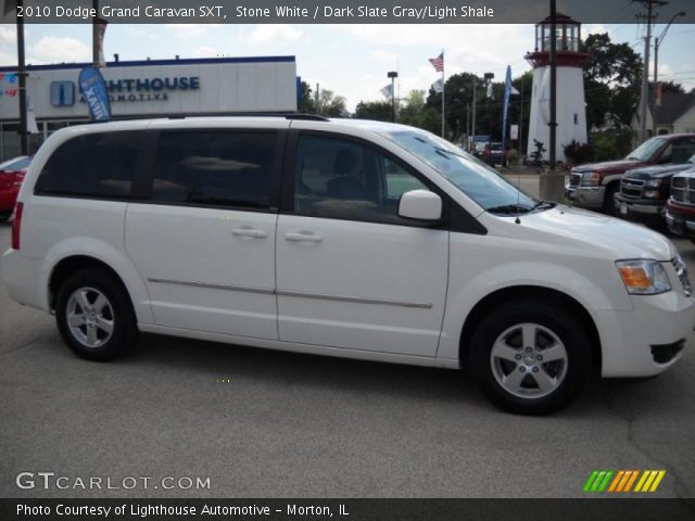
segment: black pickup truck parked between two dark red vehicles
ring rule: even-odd
[[[695,139],[690,149],[693,155],[685,163],[645,166],[626,171],[620,179],[620,191],[615,195],[617,215],[650,226],[664,226],[664,211],[671,193],[671,178],[675,174],[695,168]],[[673,162],[677,161],[674,156]]]

